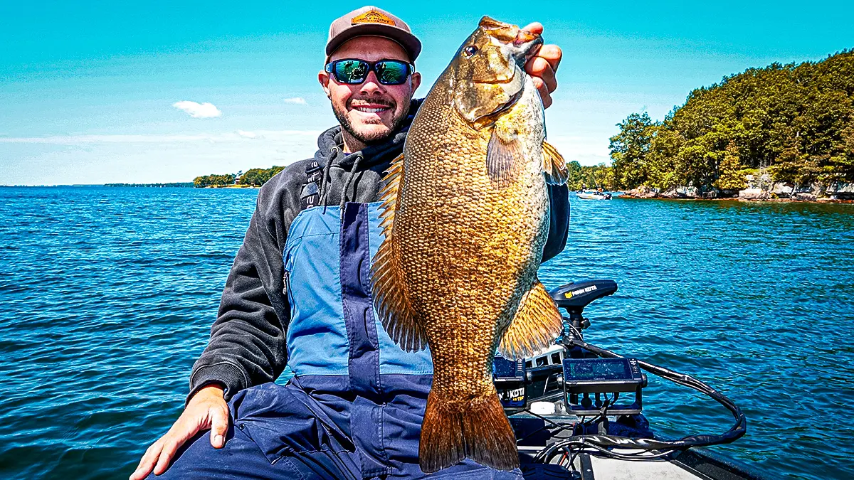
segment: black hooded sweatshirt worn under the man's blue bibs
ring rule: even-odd
[[[241,389],[272,382],[288,361],[285,333],[290,306],[284,292],[282,252],[291,222],[301,211],[301,190],[307,184],[307,164],[323,166],[322,205],[377,202],[383,173],[403,151],[412,117],[420,105],[413,101],[401,131],[384,143],[344,153],[341,126],[320,134],[313,159],[297,161],[261,187],[249,230],[225,281],[219,314],[211,328],[208,348],[190,373],[190,400],[210,383],[225,387],[225,400]],[[565,185],[549,185],[551,225],[542,261],[558,255],[566,244],[570,221]]]

